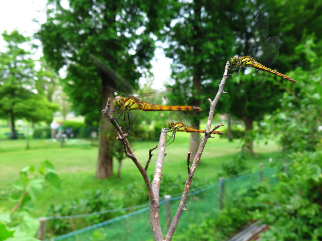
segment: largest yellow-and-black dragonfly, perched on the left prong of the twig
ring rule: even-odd
[[[90,55],[90,58],[93,62],[100,67],[109,77],[111,77],[116,83],[118,83],[126,92],[127,97],[116,96],[113,99],[113,104],[115,109],[108,110],[109,112],[118,115],[115,119],[116,121],[125,121],[126,118],[128,119],[128,126],[124,130],[124,133],[128,133],[135,120],[136,117],[132,114],[131,110],[143,110],[143,111],[162,111],[162,110],[172,110],[172,111],[201,111],[202,109],[198,106],[191,106],[191,105],[159,105],[159,104],[152,104],[146,101],[143,101],[143,98],[158,96],[158,95],[165,95],[172,91],[172,88],[160,88],[156,89],[149,93],[144,93],[141,95],[135,95],[134,87],[126,81],[122,76],[117,74],[113,69],[105,65],[102,61],[100,61],[94,55]],[[113,90],[115,91],[115,90]],[[116,91],[118,92],[118,91]],[[121,116],[124,116],[121,119]],[[133,117],[133,121],[130,121],[130,115]]]

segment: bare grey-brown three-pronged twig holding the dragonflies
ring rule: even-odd
[[[109,106],[110,106],[110,101],[111,101],[110,98],[107,101],[107,105],[106,105],[105,109],[103,109],[103,111],[102,111],[104,113],[104,115],[112,123],[112,125],[116,128],[116,131],[118,132],[118,135],[119,135],[119,137],[117,139],[123,143],[124,153],[126,154],[127,157],[131,158],[131,160],[134,162],[136,167],[139,169],[139,171],[143,177],[143,180],[144,180],[144,183],[145,183],[146,189],[147,189],[147,194],[149,197],[149,208],[150,208],[149,223],[151,225],[153,238],[155,241],[164,241],[164,240],[170,241],[170,240],[172,240],[172,237],[174,235],[176,227],[179,223],[179,219],[181,217],[181,214],[184,210],[187,210],[186,202],[187,202],[189,190],[191,187],[191,182],[194,177],[197,165],[200,161],[201,154],[205,148],[206,142],[210,138],[210,135],[214,130],[223,126],[223,124],[216,125],[210,130],[212,117],[213,117],[215,106],[218,102],[218,99],[222,93],[226,93],[226,92],[224,92],[223,88],[225,85],[225,81],[227,79],[228,66],[229,66],[229,61],[227,61],[227,63],[226,63],[224,75],[223,75],[223,78],[219,84],[219,90],[218,90],[214,100],[212,101],[211,99],[208,99],[208,101],[210,102],[210,110],[209,110],[209,115],[208,115],[207,127],[206,127],[206,131],[205,131],[205,135],[204,135],[204,137],[200,143],[200,146],[198,148],[195,159],[192,162],[191,168],[190,168],[190,154],[191,153],[188,152],[188,156],[187,156],[188,175],[187,175],[187,179],[186,179],[186,184],[184,187],[184,191],[183,191],[183,194],[181,197],[179,207],[178,207],[177,212],[172,220],[172,223],[170,225],[170,228],[169,228],[165,238],[163,237],[163,233],[162,233],[162,229],[161,229],[160,221],[159,221],[159,188],[160,188],[160,180],[162,177],[164,159],[166,156],[166,153],[165,153],[166,145],[165,144],[166,144],[167,130],[162,129],[162,131],[161,131],[159,144],[158,144],[158,152],[157,152],[157,158],[156,158],[156,163],[155,163],[153,180],[150,183],[150,181],[147,177],[147,168],[148,168],[148,165],[149,165],[150,160],[152,158],[151,152],[157,148],[157,145],[154,148],[149,150],[149,158],[147,160],[145,168],[143,168],[142,165],[140,164],[140,162],[135,157],[135,155],[131,149],[131,146],[126,139],[127,135],[125,135],[122,132],[122,129],[119,127],[116,120],[109,113],[109,109],[110,109]]]

